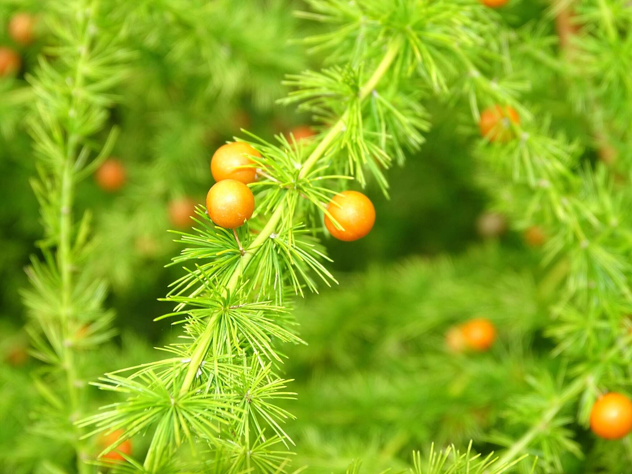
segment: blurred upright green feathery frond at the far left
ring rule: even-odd
[[[108,90],[125,76],[121,64],[131,52],[121,47],[118,34],[95,32],[102,18],[95,3],[47,5],[55,15],[49,28],[55,42],[49,54],[61,58],[57,68],[41,59],[33,75],[33,113],[28,119],[38,157],[38,178],[32,187],[40,204],[44,238],[38,242],[43,260],[32,258],[27,269],[32,288],[23,291],[30,321],[32,355],[47,364],[34,375],[42,398],[34,434],[68,443],[75,452],[76,470],[87,472],[88,447],[73,425],[85,414],[86,383],[78,351],[95,347],[112,336],[112,312],[102,308],[106,285],[85,266],[92,241],[91,215],[74,220],[74,190],[109,154],[113,129],[103,147],[92,135],[106,125]],[[61,460],[61,459],[59,459]],[[55,461],[47,461],[54,470]]]

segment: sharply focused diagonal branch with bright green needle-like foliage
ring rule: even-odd
[[[340,10],[329,2],[315,2],[313,7]],[[186,269],[166,298],[176,304],[166,316],[178,318],[174,324],[184,328],[185,342],[166,348],[179,360],[106,374],[99,383],[123,391],[126,399],[104,407],[79,426],[107,432],[121,429],[118,442],[140,432],[149,434],[149,451],[138,463],[143,471],[162,471],[181,449],[194,459],[204,459],[210,450],[217,469],[285,470],[287,459],[267,451],[272,446],[267,443],[293,444],[283,427],[292,415],[277,406],[295,395],[286,390],[291,380],[279,375],[282,344],[300,342],[289,331],[293,322],[287,295],[302,293],[302,286],[315,289],[315,276],[332,279],[322,263],[325,255],[313,241],[322,229],[323,202],[344,186],[347,181],[341,178],[348,174],[363,184],[368,171],[386,190],[380,166],[389,166],[394,158],[401,161],[404,147],[416,149],[423,142],[425,112],[413,105],[418,92],[410,91],[423,56],[432,53],[418,52],[418,38],[432,31],[438,42],[432,51],[443,60],[446,53],[439,46],[449,44],[446,32],[456,32],[456,25],[464,22],[473,30],[483,30],[483,21],[488,21],[485,15],[465,14],[455,21],[438,9],[418,11],[407,2],[395,3],[386,12],[383,8],[378,2],[345,8],[355,20],[345,18],[349,27],[336,34],[343,42],[355,37],[356,54],[348,58],[334,52],[329,59],[337,66],[293,76],[290,82],[301,92],[289,100],[300,100],[304,109],[332,118],[329,128],[324,127],[308,145],[296,147],[284,137],[276,137],[274,144],[250,135],[250,143],[262,155],[255,161],[263,177],[252,186],[257,200],[252,221],[231,236],[200,209],[197,234],[183,233],[182,240],[195,248],[176,260],[195,268]],[[480,11],[472,4],[466,11],[470,8]],[[380,21],[385,13],[390,21]],[[353,30],[366,15],[374,18],[375,28],[360,39]],[[336,15],[318,19],[332,25],[339,21]],[[404,32],[411,28],[418,33],[408,37]],[[326,37],[307,42],[325,48],[329,43]],[[365,47],[369,44],[371,49]],[[467,46],[473,44],[468,38]],[[385,52],[376,56],[374,51],[382,47]],[[356,64],[362,67],[354,68]],[[428,72],[438,86],[437,71]],[[406,130],[410,133],[403,140],[401,133]],[[236,448],[229,461],[226,442]],[[253,458],[254,447],[265,461]]]

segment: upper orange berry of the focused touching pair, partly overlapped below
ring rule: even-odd
[[[257,180],[257,169],[241,167],[254,164],[248,155],[261,157],[259,152],[248,143],[234,142],[222,145],[210,159],[210,174],[216,181],[236,179],[245,185],[254,183]]]

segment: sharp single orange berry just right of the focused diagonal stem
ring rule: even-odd
[[[326,214],[325,227],[332,236],[345,242],[363,238],[375,224],[373,203],[358,191],[343,191],[334,196],[327,206],[327,211],[344,230],[336,228]]]

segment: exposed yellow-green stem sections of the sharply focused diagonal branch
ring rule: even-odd
[[[360,88],[360,92],[358,93],[358,99],[361,101],[366,99],[368,94],[370,94],[375,86],[380,82],[380,79],[386,74],[389,66],[391,66],[394,59],[397,57],[399,50],[401,49],[401,39],[394,39],[391,42],[391,45],[386,51],[384,58],[380,61],[374,73],[368,78],[367,82]],[[298,173],[298,178],[305,178],[307,174],[310,172],[310,169],[316,164],[317,161],[327,152],[331,143],[336,139],[339,133],[344,129],[344,120],[346,118],[347,111],[341,116],[341,118],[336,122],[334,126],[327,132],[327,135],[322,138],[322,141],[319,145],[313,150],[313,152],[307,157],[305,163],[301,167],[301,171]],[[258,248],[265,242],[267,238],[274,233],[277,228],[277,224],[281,221],[281,217],[283,217],[283,204],[279,204],[279,207],[274,210],[272,216],[270,216],[269,221],[265,224],[265,227],[258,234],[257,238],[252,242],[248,249],[246,249],[244,255],[241,257],[241,262],[238,267],[234,270],[231,275],[227,289],[229,291],[234,291],[237,288],[240,277],[243,275],[246,267],[257,253]],[[193,384],[193,380],[195,380],[195,375],[197,374],[198,367],[202,360],[204,360],[204,356],[209,350],[209,346],[212,339],[212,331],[213,331],[213,321],[214,319],[209,320],[209,324],[207,324],[206,329],[198,339],[193,354],[191,355],[191,362],[186,370],[185,379],[182,382],[182,386],[180,387],[179,396],[185,395],[191,385]]]

